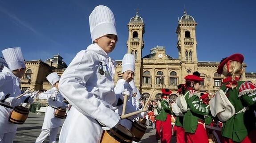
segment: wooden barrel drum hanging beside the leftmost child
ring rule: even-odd
[[[24,124],[28,118],[29,108],[23,106],[15,106],[11,112],[9,122],[13,124]]]

